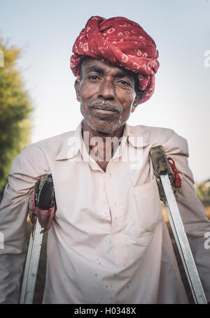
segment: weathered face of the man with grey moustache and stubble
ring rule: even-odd
[[[85,59],[81,72],[75,88],[85,123],[94,131],[114,133],[137,106],[134,75],[92,58]]]

